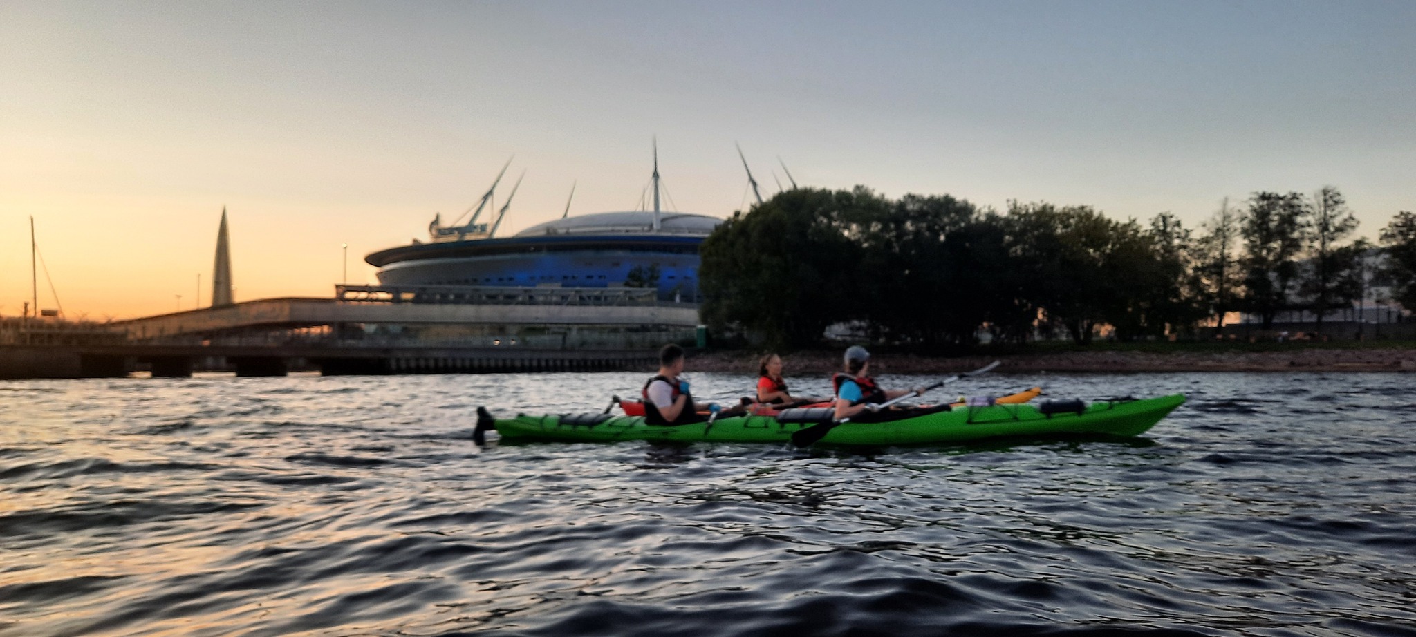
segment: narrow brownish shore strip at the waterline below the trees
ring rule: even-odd
[[[1402,371],[1416,372],[1416,350],[1293,350],[1293,351],[1223,351],[1223,352],[1143,352],[1143,351],[1072,351],[1049,354],[1014,354],[1004,357],[916,357],[879,354],[875,374],[939,374],[976,369],[994,358],[1000,372],[1294,372],[1294,371]],[[787,354],[783,364],[789,374],[830,374],[840,368],[837,352],[809,351]],[[705,352],[690,358],[688,367],[700,371],[756,374],[758,355],[750,352]]]

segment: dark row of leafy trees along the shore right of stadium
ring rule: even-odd
[[[1170,212],[1141,224],[1087,205],[998,212],[950,195],[796,188],[704,241],[701,314],[773,347],[810,347],[833,324],[932,347],[980,330],[998,343],[1086,344],[1103,324],[1120,340],[1187,334],[1229,311],[1267,328],[1280,311],[1321,317],[1362,294],[1374,245],[1351,238],[1357,225],[1332,187],[1226,201],[1194,229]],[[1395,300],[1416,307],[1416,215],[1381,236]]]

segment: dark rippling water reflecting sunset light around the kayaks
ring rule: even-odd
[[[469,442],[641,382],[0,384],[0,636],[1416,634],[1409,375],[949,388],[1191,396],[1131,442]]]

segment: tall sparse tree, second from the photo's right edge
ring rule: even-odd
[[[1310,299],[1317,314],[1317,333],[1323,317],[1332,307],[1349,306],[1361,293],[1357,283],[1359,251],[1338,243],[1357,229],[1357,217],[1337,188],[1327,185],[1313,194],[1311,222],[1307,229],[1308,262],[1298,292]]]

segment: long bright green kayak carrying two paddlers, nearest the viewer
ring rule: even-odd
[[[1007,436],[1138,436],[1185,402],[1182,394],[1150,399],[1044,402],[881,412],[879,422],[830,422],[830,409],[787,409],[779,416],[732,416],[692,425],[644,425],[643,416],[575,413],[496,419],[477,408],[474,439],[496,429],[506,440],[559,442],[762,442],[786,443],[806,427],[826,427],[827,444],[930,444]],[[794,413],[796,412],[796,413]],[[813,413],[814,412],[814,413]],[[816,439],[817,436],[807,436]],[[799,437],[800,439],[800,437]]]

